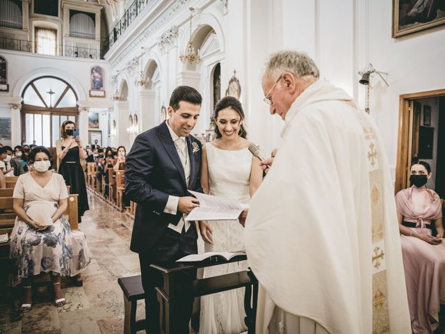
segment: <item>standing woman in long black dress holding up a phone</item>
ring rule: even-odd
[[[56,141],[58,173],[63,176],[67,186],[71,186],[71,192],[79,194],[77,207],[81,223],[83,213],[90,209],[81,165],[81,159],[86,158],[86,153],[82,148],[79,130],[72,120],[65,120],[62,123],[60,137],[61,139]]]

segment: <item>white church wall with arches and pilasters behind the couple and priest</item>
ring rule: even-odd
[[[237,71],[250,140],[261,146],[263,155],[279,143],[283,124],[277,116],[268,115],[268,106],[262,101],[261,72],[266,57],[273,51],[306,51],[319,65],[321,77],[344,88],[362,107],[366,90],[358,84],[357,72],[373,63],[376,69],[389,73],[389,87],[377,76],[371,77],[370,109],[386,145],[393,174],[399,95],[445,88],[445,26],[391,38],[391,1],[243,0],[228,1],[228,10],[224,8],[225,1],[174,3],[170,8],[167,3],[160,3],[152,11],[147,10],[145,17],[135,22],[106,55],[113,72],[119,71],[119,77],[127,78],[129,111],[145,112],[138,110],[143,104],[133,86],[134,74],[126,70],[133,57],[140,54],[140,47],[145,47],[142,68],[153,58],[160,68],[159,101],[168,104],[171,91],[178,84],[197,85],[204,103],[202,118],[193,133],[200,134],[207,128],[212,113],[208,69],[213,64],[204,60],[197,72],[184,72],[178,59],[188,41],[188,7],[194,6],[197,13],[193,31],[200,24],[211,24],[222,41],[219,60],[223,95],[233,70]],[[172,26],[179,27],[179,36],[161,50],[161,34]],[[127,115],[115,117],[124,121]],[[151,119],[153,124],[144,122],[140,131],[157,125],[158,118]],[[124,124],[119,131],[126,129]],[[131,142],[127,134],[120,134],[120,138]]]

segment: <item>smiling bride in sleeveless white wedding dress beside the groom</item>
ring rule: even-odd
[[[216,140],[202,150],[202,189],[205,193],[247,204],[262,180],[259,159],[250,154],[250,141],[243,127],[241,102],[224,97],[216,104]],[[202,221],[204,251],[236,251],[244,248],[243,227],[238,221]],[[247,269],[247,261],[204,269],[204,278]],[[238,334],[244,323],[244,289],[201,297],[200,333]]]

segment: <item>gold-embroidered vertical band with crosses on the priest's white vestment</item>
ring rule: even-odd
[[[372,264],[373,264],[373,334],[389,333],[389,310],[387,301],[387,264],[385,257],[385,215],[383,207],[382,170],[379,167],[377,136],[369,120],[351,101],[355,115],[362,126],[368,148],[369,192],[372,214]]]

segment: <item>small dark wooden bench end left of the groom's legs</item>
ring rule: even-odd
[[[118,278],[118,283],[124,293],[124,334],[136,334],[145,329],[145,319],[136,321],[138,301],[145,298],[140,275]]]

